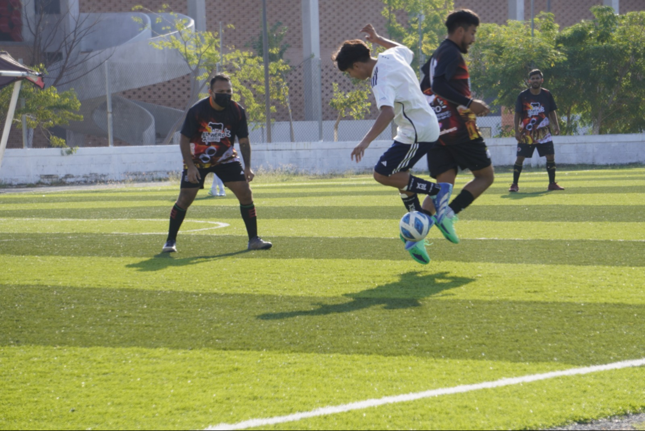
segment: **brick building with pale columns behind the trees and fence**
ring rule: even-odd
[[[25,30],[24,24],[26,15],[39,7],[48,7],[55,13],[65,10],[66,5],[72,5],[74,1],[0,0],[0,48],[8,51],[15,58],[25,59],[25,63],[30,64],[29,33]],[[205,29],[211,32],[219,31],[219,23],[223,23],[224,26],[232,25],[233,28],[224,30],[224,46],[244,49],[245,45],[261,32],[261,0],[235,2],[137,0],[134,3],[126,0],[78,0],[75,10],[81,14],[108,14],[130,12],[132,6],[142,5],[154,11],[161,7],[161,3],[168,4],[174,12],[192,16],[196,23],[203,22]],[[308,97],[312,97],[310,94],[312,88],[311,86],[306,88],[306,83],[313,78],[310,66],[312,62],[305,59],[312,54],[321,59],[319,90],[321,95],[317,101],[318,106],[322,108],[324,120],[335,119],[336,114],[328,105],[332,97],[332,82],[336,81],[347,87],[349,81],[335,70],[330,57],[343,40],[361,37],[358,30],[364,23],[372,23],[377,30],[384,29],[385,18],[381,15],[382,1],[269,0],[267,3],[269,25],[280,21],[288,27],[284,42],[290,47],[286,50],[285,58],[294,66],[293,72],[288,77],[294,119],[301,121],[312,119],[310,118],[312,115],[318,115],[310,109],[311,100],[308,100]],[[530,20],[531,18],[531,0],[454,0],[453,3],[455,8],[474,10],[484,23],[503,24],[508,19]],[[613,6],[620,14],[645,10],[645,0],[533,0],[533,10],[535,15],[540,11],[550,10],[555,15],[555,21],[564,27],[573,25],[581,19],[591,19],[593,17],[590,12],[591,6],[602,4]],[[201,10],[205,10],[205,14],[199,12],[200,5]],[[205,19],[203,19],[204,15]],[[315,27],[318,28],[318,32]],[[181,109],[186,104],[190,86],[190,79],[187,75],[183,75],[168,81],[154,81],[150,85],[140,85],[115,94],[129,101]],[[313,102],[316,102],[315,97],[313,99]],[[372,108],[372,117],[375,114],[375,108]],[[276,119],[279,121],[286,119],[284,108],[279,108]],[[105,145],[106,143],[104,137],[83,136],[80,140],[78,136],[75,137],[77,145]],[[159,132],[157,132],[158,136]],[[34,141],[34,146],[45,145],[46,142],[42,139]],[[19,130],[12,132],[9,143],[10,148],[18,146],[22,146]]]

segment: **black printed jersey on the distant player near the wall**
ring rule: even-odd
[[[515,112],[521,115],[519,129],[525,144],[543,144],[553,140],[549,114],[557,108],[553,95],[546,88],[541,88],[540,94],[533,94],[527,88],[517,96]]]

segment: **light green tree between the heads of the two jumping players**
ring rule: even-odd
[[[388,37],[408,46],[415,53],[412,68],[419,71],[419,48],[431,55],[446,35],[446,17],[453,10],[452,0],[383,0],[381,15],[388,21]],[[421,37],[419,37],[421,35]]]

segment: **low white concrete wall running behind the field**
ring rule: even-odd
[[[486,143],[494,165],[513,165],[517,150],[515,139],[487,139]],[[350,160],[356,144],[356,141],[255,143],[252,166],[255,170],[286,168],[313,174],[371,172],[392,141],[374,141],[361,163]],[[544,160],[544,157],[537,157],[536,151],[531,163],[544,165]],[[645,163],[645,134],[556,137],[555,161],[589,165]],[[71,155],[63,155],[57,148],[20,148],[6,150],[0,167],[0,182],[20,185],[140,181],[163,179],[181,169],[177,145],[79,148]],[[427,169],[426,162],[418,163],[417,169]]]

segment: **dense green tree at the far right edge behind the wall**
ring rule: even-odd
[[[578,114],[594,134],[642,132],[645,12],[616,15],[609,6],[591,12],[595,19],[557,36],[566,61],[553,70],[554,90],[566,101],[565,115]]]

